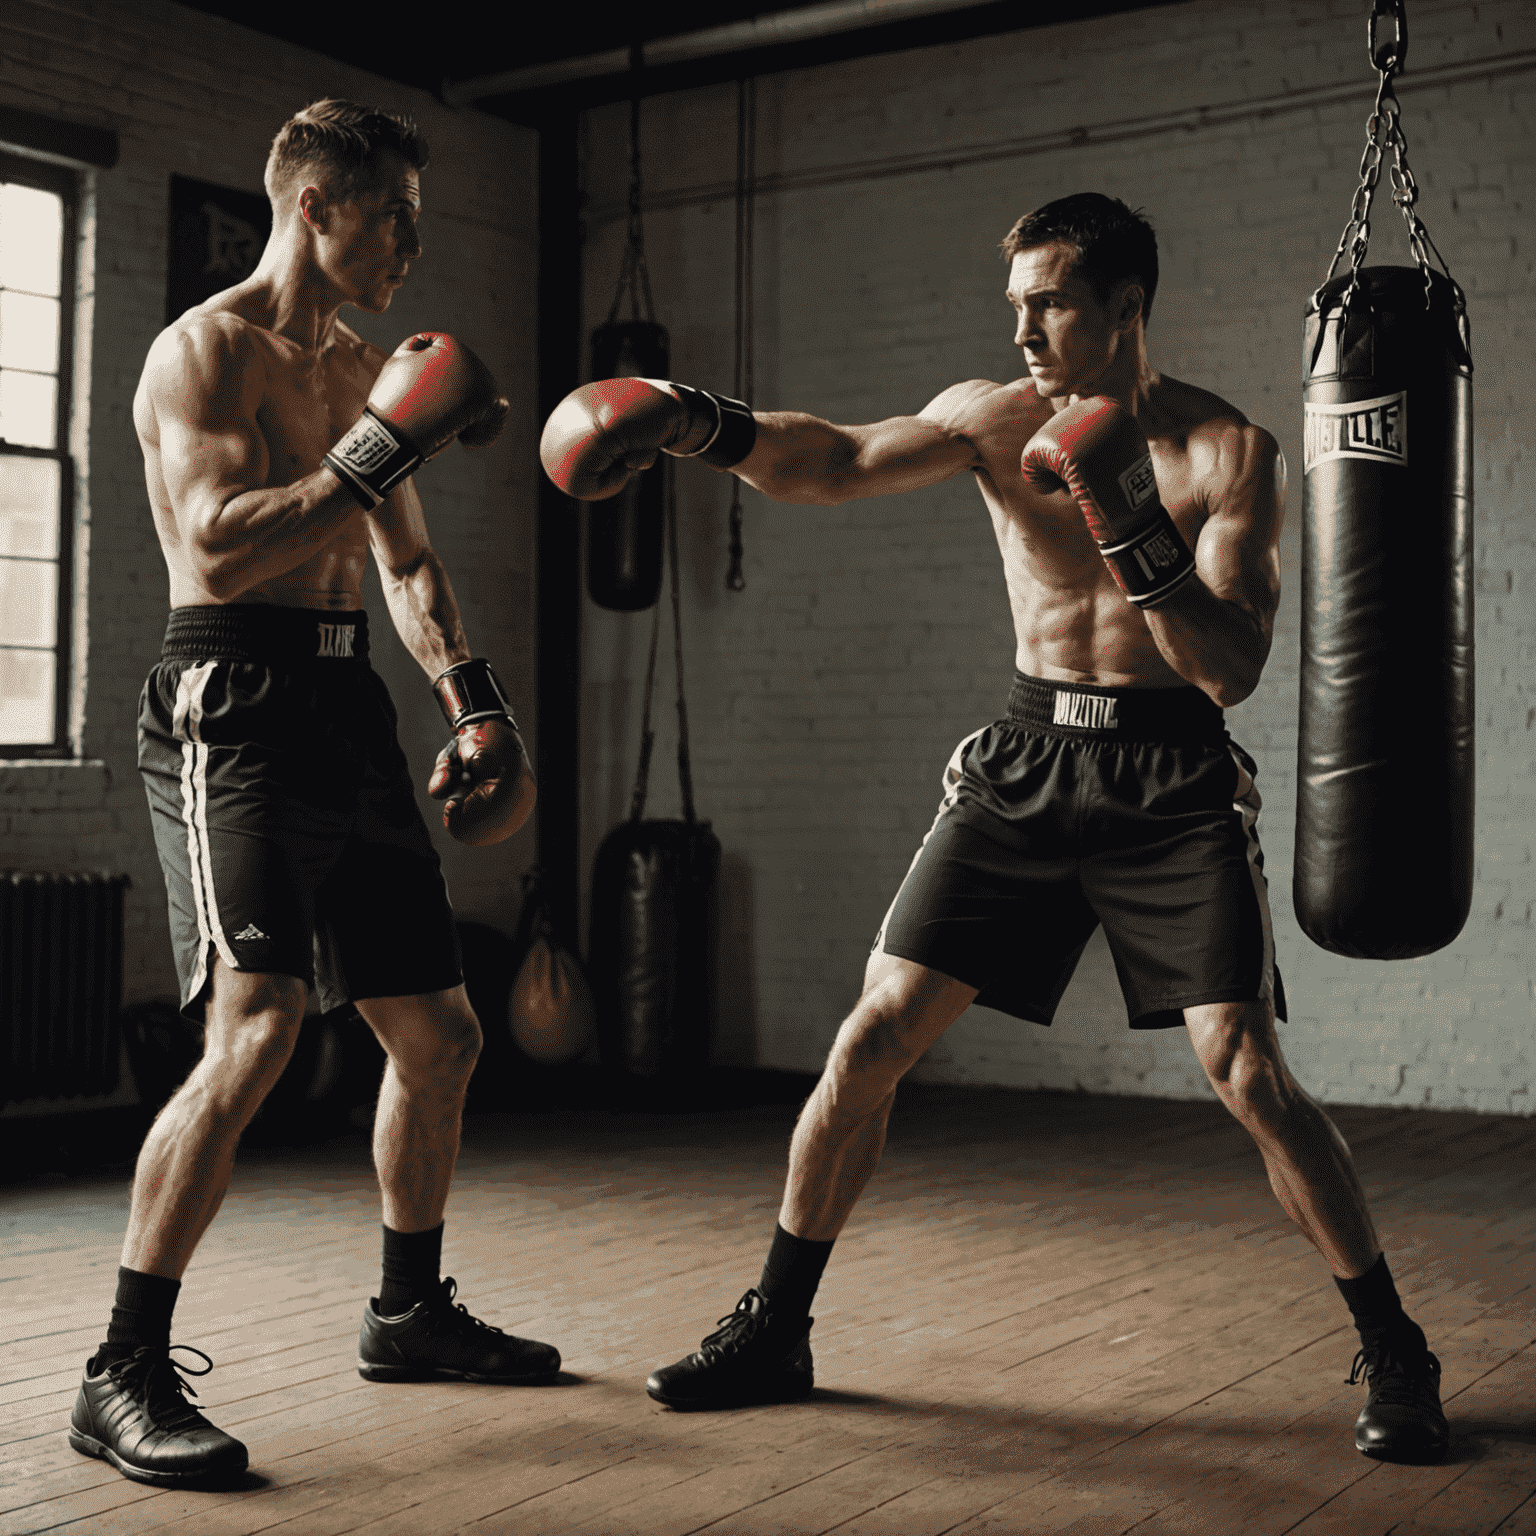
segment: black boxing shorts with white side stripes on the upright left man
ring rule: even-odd
[[[214,957],[324,1009],[458,986],[458,935],[367,614],[172,608],[138,707],[181,1011]]]

